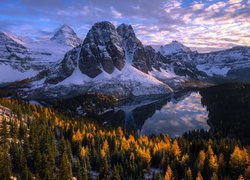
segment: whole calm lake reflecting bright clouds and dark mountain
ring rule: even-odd
[[[135,99],[101,118],[106,121],[106,126],[122,126],[146,135],[167,133],[176,137],[189,130],[209,129],[207,116],[200,94],[183,92],[160,99]]]

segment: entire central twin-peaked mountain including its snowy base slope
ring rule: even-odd
[[[133,52],[132,63],[127,61],[128,47]],[[67,93],[88,90],[130,96],[172,91],[167,84],[144,73],[142,64],[148,71],[147,60],[132,26],[121,25],[116,29],[110,22],[98,22],[81,46],[69,51],[60,64],[50,69],[45,83],[51,89],[63,88]]]

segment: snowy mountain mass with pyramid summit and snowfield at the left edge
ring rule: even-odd
[[[51,39],[21,40],[10,33],[0,32],[0,70],[5,74],[0,77],[0,83],[31,78],[61,61],[72,46],[80,44],[69,26],[60,27]]]

